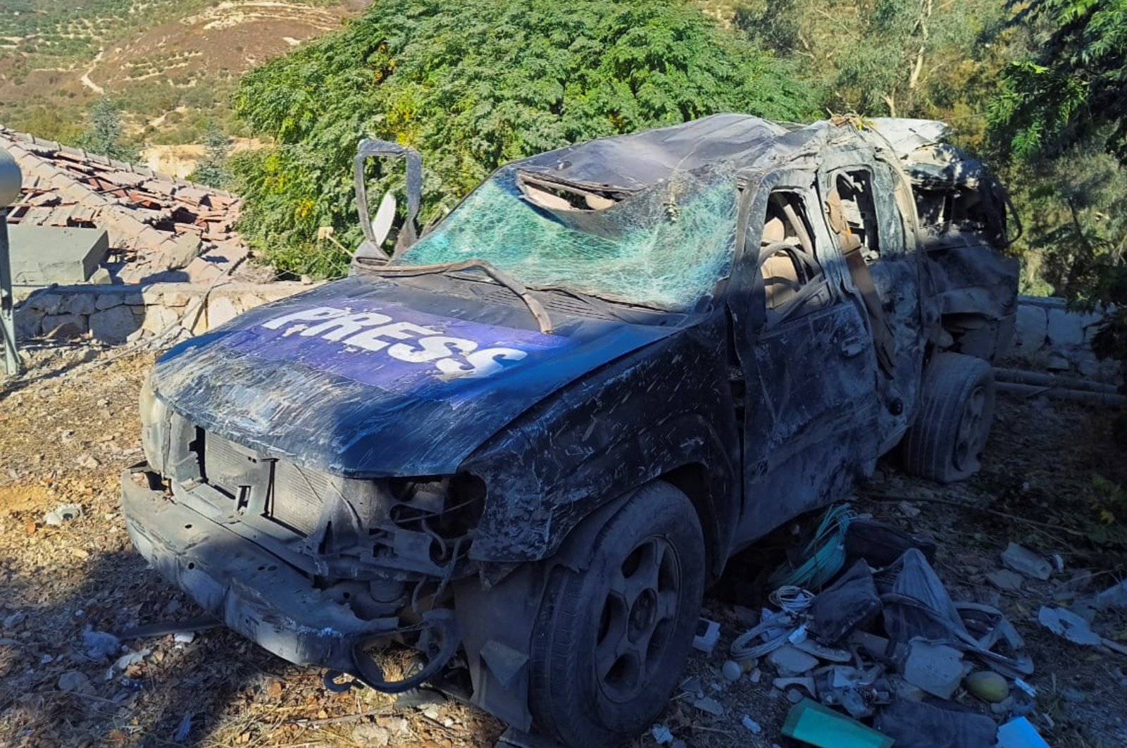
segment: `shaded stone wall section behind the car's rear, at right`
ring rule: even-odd
[[[1102,319],[1099,313],[1070,311],[1063,299],[1021,296],[1013,354],[1038,368],[1116,381],[1119,363],[1101,362],[1092,353]]]

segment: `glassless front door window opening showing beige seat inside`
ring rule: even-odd
[[[806,207],[795,193],[778,192],[767,202],[760,239],[760,274],[769,314],[786,314],[815,295],[817,284],[813,282],[822,278],[822,266]]]

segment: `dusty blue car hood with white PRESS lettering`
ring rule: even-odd
[[[498,301],[507,290],[435,282],[441,293],[353,277],[259,306],[161,356],[157,394],[210,431],[317,470],[450,474],[552,392],[678,329],[571,304],[542,335],[515,296]]]

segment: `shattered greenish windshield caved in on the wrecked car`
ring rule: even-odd
[[[690,310],[731,269],[736,189],[716,172],[637,192],[502,168],[393,265],[482,259],[532,287]]]

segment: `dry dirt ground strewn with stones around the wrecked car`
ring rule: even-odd
[[[0,380],[0,743],[492,745],[504,725],[472,707],[447,702],[392,711],[388,697],[367,689],[334,694],[322,673],[289,665],[224,629],[192,641],[171,634],[126,641],[139,657],[124,671],[110,669],[124,650],[92,659],[87,630],[122,632],[201,614],[133,552],[118,507],[118,474],[141,460],[136,402],[151,355],[61,346],[33,350],[29,363],[24,377]],[[1038,692],[1030,720],[1054,747],[1127,745],[1127,656],[1071,644],[1037,623],[1041,605],[1102,589],[1124,570],[1127,500],[1115,484],[1127,483],[1127,460],[1111,433],[1107,413],[1003,400],[974,480],[943,488],[882,465],[866,489],[881,498],[854,504],[859,513],[933,535],[935,568],[952,598],[1008,614],[1037,667],[1027,679]],[[81,515],[46,524],[44,514],[64,504],[79,505]],[[1018,591],[995,589],[985,575],[1000,568],[999,553],[1011,541],[1058,554],[1063,571],[1026,580]],[[790,703],[772,687],[770,667],[757,683],[754,674],[736,683],[720,675],[728,644],[747,627],[735,602],[758,605],[747,594],[751,567],[748,558],[736,559],[707,600],[706,615],[721,624],[720,643],[711,654],[693,653],[689,689],[658,720],[686,746],[787,745],[780,728]],[[1094,627],[1107,639],[1127,639],[1121,614],[1102,613]],[[695,707],[701,694],[724,713]],[[957,697],[988,713],[973,696]],[[762,732],[744,727],[744,715]],[[645,734],[633,745],[655,740]]]

